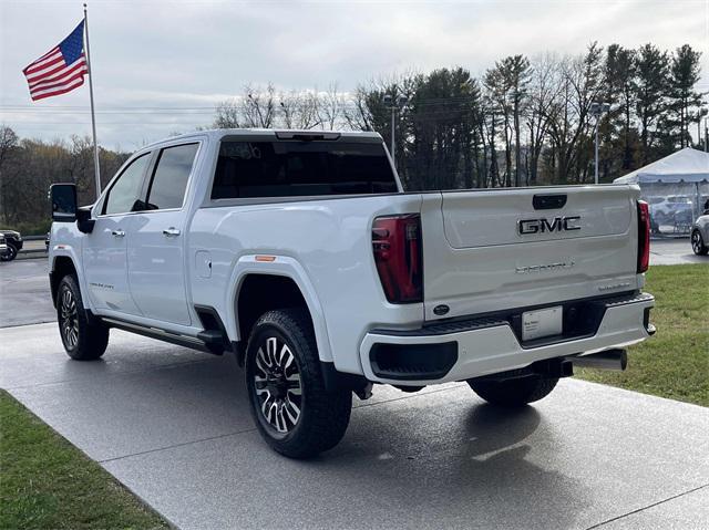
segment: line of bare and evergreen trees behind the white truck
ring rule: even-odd
[[[507,56],[479,77],[459,66],[352,92],[247,85],[216,106],[212,126],[376,131],[388,145],[393,133],[411,190],[590,183],[597,126],[600,181],[610,181],[692,145],[690,131],[707,113],[699,60],[687,44],[592,43],[578,55]],[[596,119],[592,105],[600,102],[612,106]],[[127,156],[100,149],[104,185]],[[92,157],[88,137],[42,142],[0,126],[0,222],[43,229],[56,181],[76,183],[80,201],[91,202]]]

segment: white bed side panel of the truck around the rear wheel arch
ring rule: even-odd
[[[216,304],[230,337],[245,340],[235,314],[245,274],[289,276],[316,320],[320,357],[342,372],[361,373],[359,344],[369,329],[411,326],[423,318],[421,303],[386,302],[372,257],[372,220],[420,207],[420,195],[402,194],[201,208],[192,221],[188,256],[208,256],[212,272],[210,278],[191,274],[193,303]],[[257,254],[276,260],[257,262]]]

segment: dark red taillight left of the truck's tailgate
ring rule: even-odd
[[[372,249],[387,300],[422,302],[421,217],[418,214],[378,217],[372,224]]]

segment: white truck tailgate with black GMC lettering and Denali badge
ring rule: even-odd
[[[424,196],[425,319],[637,289],[638,197],[633,186]]]

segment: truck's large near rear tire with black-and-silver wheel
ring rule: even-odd
[[[246,350],[245,374],[254,422],[276,451],[309,458],[345,436],[352,393],[326,392],[307,311],[269,311],[258,319]]]

